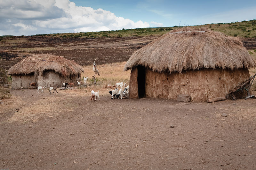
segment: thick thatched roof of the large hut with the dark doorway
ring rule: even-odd
[[[206,28],[181,28],[135,51],[124,70],[137,65],[160,72],[181,72],[203,68],[249,68],[255,67],[256,61],[237,37]]]

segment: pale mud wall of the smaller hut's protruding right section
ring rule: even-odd
[[[37,81],[37,85],[38,86],[62,86],[62,83],[75,83],[75,85],[77,86],[77,81],[80,81],[80,74],[79,75],[73,75],[70,77],[63,77],[60,74],[54,72],[54,71],[44,71],[42,74],[38,75],[38,81]]]

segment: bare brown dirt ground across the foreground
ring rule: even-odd
[[[92,102],[79,89],[58,92],[11,90],[2,101],[1,169],[256,167],[256,99]]]

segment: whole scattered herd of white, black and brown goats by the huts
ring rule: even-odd
[[[84,78],[84,84],[86,84],[87,79],[88,79],[88,77]],[[82,83],[82,81],[77,81],[77,87],[79,87],[81,85],[81,83]],[[33,89],[34,86],[36,87],[36,82],[29,83],[29,85],[32,86],[32,89]],[[69,85],[70,87],[73,86],[75,88],[74,83],[62,83],[61,89],[63,87],[64,87],[64,89],[66,89],[66,87],[68,88],[67,85]],[[120,90],[117,89],[118,86],[120,86]],[[37,92],[39,93],[39,90],[41,90],[41,92],[44,92],[45,88],[46,88],[45,86],[37,86]],[[59,88],[59,86],[55,86],[55,87],[50,86],[49,92],[51,93],[52,90],[53,90],[53,93],[54,93],[54,91],[57,92],[57,88]],[[112,88],[115,88],[115,89],[112,90]],[[108,84],[108,90],[109,90],[108,94],[111,94],[111,99],[123,99],[123,98],[125,99],[125,98],[127,98],[127,94],[129,94],[129,85],[126,85],[126,83],[123,84],[123,82],[116,83],[116,85],[113,85],[113,86]],[[92,90],[92,97],[90,98],[90,100],[96,101],[97,98],[100,100],[99,91],[94,92]]]

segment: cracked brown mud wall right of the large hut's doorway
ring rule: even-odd
[[[203,69],[182,74],[159,73],[146,69],[145,93],[150,98],[174,100],[179,94],[189,94],[191,101],[207,101],[209,98],[226,96],[249,77],[248,69]],[[244,92],[238,97],[244,97],[245,94]]]

